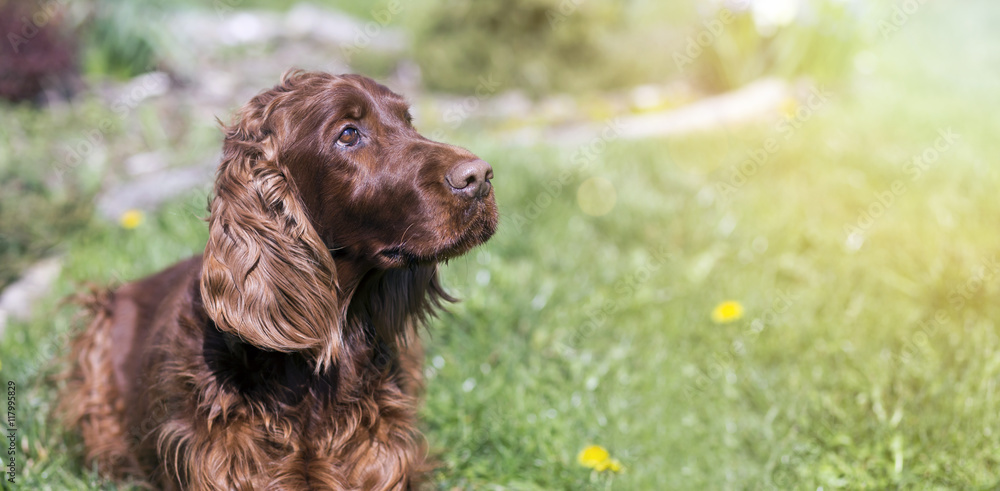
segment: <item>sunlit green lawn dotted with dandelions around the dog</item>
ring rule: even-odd
[[[438,487],[1000,485],[1000,127],[989,112],[1000,82],[988,68],[1000,51],[961,41],[996,41],[998,14],[986,2],[921,7],[873,48],[873,74],[829,87],[787,139],[766,122],[610,141],[580,166],[573,148],[453,135],[496,168],[504,219],[445,268],[463,302],[427,336],[422,417]],[[946,128],[960,139],[911,172]],[[767,138],[778,150],[720,188]],[[569,182],[547,188],[563,170]],[[595,176],[617,190],[599,217],[577,200]],[[876,206],[897,181],[904,191]],[[8,327],[0,371],[19,387],[24,488],[97,485],[78,440],[45,419],[44,377],[72,325],[56,300],[198,252],[204,193],[133,231],[95,223],[67,237],[52,314]],[[859,220],[864,240],[848,240]],[[725,300],[743,319],[710,320]],[[624,472],[580,467],[590,443]]]

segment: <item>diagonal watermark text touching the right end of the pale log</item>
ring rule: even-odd
[[[791,140],[795,132],[826,106],[832,97],[833,94],[823,86],[810,88],[809,95],[802,104],[798,104],[795,113],[781,118],[774,124],[774,131],[778,137],[767,137],[757,148],[747,150],[746,159],[730,168],[729,178],[715,184],[716,192],[723,198],[735,194],[771,160],[774,154],[781,151],[782,143]]]

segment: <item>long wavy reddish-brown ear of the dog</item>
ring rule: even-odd
[[[226,128],[201,294],[220,330],[260,348],[307,352],[322,370],[342,346],[336,270],[277,162],[274,130],[283,123],[266,119],[276,91],[254,98]]]

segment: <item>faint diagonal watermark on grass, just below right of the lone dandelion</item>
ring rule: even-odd
[[[776,290],[771,305],[763,314],[750,321],[741,338],[730,343],[725,351],[713,353],[705,368],[695,368],[694,380],[684,388],[687,399],[690,400],[695,393],[708,390],[708,387],[721,379],[726,372],[735,371],[734,367],[738,359],[746,353],[747,346],[755,342],[768,326],[777,324],[781,316],[787,313],[797,300],[797,295],[781,289]]]

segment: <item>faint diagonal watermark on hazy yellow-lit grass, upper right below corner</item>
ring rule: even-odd
[[[951,128],[939,129],[938,137],[934,140],[934,143],[913,155],[906,163],[904,170],[909,174],[910,182],[916,182],[923,177],[924,173],[941,158],[941,155],[951,150],[960,139],[961,135],[955,133]],[[885,189],[876,191],[875,199],[868,206],[858,210],[858,218],[854,223],[844,225],[844,234],[847,236],[848,249],[859,249],[865,241],[868,230],[909,189],[906,181],[900,178],[889,183]]]

